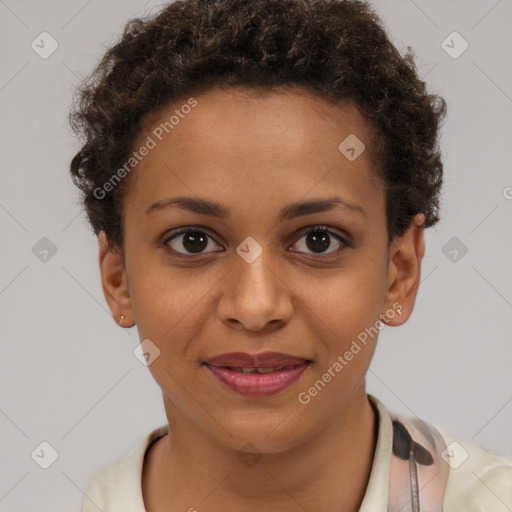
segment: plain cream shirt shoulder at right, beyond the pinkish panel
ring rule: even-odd
[[[446,512],[512,510],[512,459],[438,429],[446,444],[442,456],[450,466]]]

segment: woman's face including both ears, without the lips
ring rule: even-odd
[[[155,145],[124,198],[126,267],[102,237],[103,288],[123,325],[157,347],[149,370],[171,424],[278,452],[344,421],[363,396],[375,326],[412,311],[422,232],[388,246],[384,187],[353,105],[300,90],[195,101],[144,123],[136,147],[148,136]],[[179,122],[161,133],[176,110]],[[354,135],[359,156],[362,146],[339,149]],[[204,364],[233,352],[309,363],[280,391],[248,396]]]

